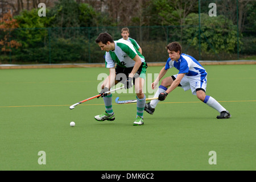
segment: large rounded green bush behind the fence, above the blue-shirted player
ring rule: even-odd
[[[192,13],[187,16],[185,23],[190,25],[184,32],[184,40],[191,46],[199,45],[199,30],[197,26],[199,15]],[[232,20],[224,15],[210,17],[201,13],[201,49],[205,53],[234,53],[237,46],[237,30]]]

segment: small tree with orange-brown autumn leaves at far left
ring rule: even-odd
[[[11,40],[11,32],[14,28],[19,27],[19,24],[16,22],[16,19],[13,18],[11,11],[3,15],[3,18],[0,19],[0,29],[2,28],[3,39],[0,40],[0,46],[2,46],[2,52],[11,52],[11,48],[18,48],[22,46],[16,40]]]

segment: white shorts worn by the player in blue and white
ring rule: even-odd
[[[177,75],[174,75],[177,78]],[[207,88],[207,76],[201,77],[201,75],[197,76],[184,76],[180,81],[180,87],[187,91],[191,89],[193,95],[196,95],[196,89],[204,89],[206,92]]]

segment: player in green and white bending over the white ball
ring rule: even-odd
[[[134,126],[143,125],[143,111],[146,104],[146,96],[143,93],[143,85],[146,78],[147,63],[144,56],[126,40],[114,41],[108,33],[101,33],[96,43],[102,51],[106,51],[106,68],[109,68],[109,76],[102,85],[101,97],[104,99],[105,112],[96,115],[97,121],[114,121],[115,115],[112,108],[112,94],[106,94],[112,86],[118,82],[125,84],[125,89],[135,86],[137,98],[137,115]],[[115,67],[115,63],[117,66]]]

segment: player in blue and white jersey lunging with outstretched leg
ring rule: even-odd
[[[185,91],[191,89],[192,94],[196,95],[199,100],[208,106],[213,107],[213,109],[216,109],[220,113],[220,115],[217,115],[218,119],[230,118],[231,115],[228,110],[220,105],[220,103],[213,97],[205,94],[207,89],[207,72],[201,64],[192,56],[181,53],[181,46],[177,42],[168,44],[167,51],[170,58],[160,71],[158,77],[152,82],[152,89],[155,89],[155,86],[158,85],[161,78],[166,75],[168,69],[175,67],[179,70],[179,73],[162,80],[161,85],[154,96],[158,97],[158,100],[148,102],[145,105],[144,110],[149,114],[153,114],[158,102],[165,100],[172,90],[177,86],[180,86]]]

